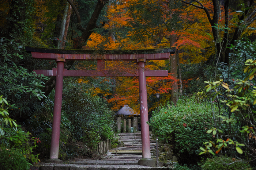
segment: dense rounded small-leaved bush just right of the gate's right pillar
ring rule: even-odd
[[[216,107],[213,109],[217,111]],[[159,113],[154,112],[149,124],[160,141],[173,146],[174,154],[180,155],[180,162],[190,157],[193,163],[202,141],[214,139],[206,133],[213,124],[211,110],[206,102],[197,103],[194,97],[184,97],[178,100],[177,106],[167,105],[160,108]]]

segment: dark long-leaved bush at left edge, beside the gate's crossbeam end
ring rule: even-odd
[[[29,73],[20,66],[22,46],[14,40],[0,39],[0,92],[10,101],[10,117],[23,121],[35,112],[41,112],[39,100],[45,97],[41,91],[47,77]]]

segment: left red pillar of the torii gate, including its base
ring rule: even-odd
[[[53,123],[52,123],[52,140],[50,147],[50,159],[45,162],[62,163],[59,158],[59,144],[60,144],[60,120],[61,120],[61,105],[62,105],[62,92],[63,92],[63,69],[64,58],[57,58],[57,74],[56,86],[53,107]]]

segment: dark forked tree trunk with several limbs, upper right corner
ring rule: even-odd
[[[255,7],[251,8],[253,5],[254,0],[244,0],[244,4],[248,5],[248,8],[245,9],[243,13],[241,13],[240,16],[238,16],[239,21],[243,22],[238,22],[236,26],[236,30],[233,33],[233,37],[230,37],[229,32],[228,32],[228,25],[229,25],[229,5],[230,5],[230,0],[225,0],[224,2],[224,10],[225,10],[225,32],[224,35],[221,37],[219,34],[220,30],[217,27],[219,24],[219,17],[221,14],[221,1],[219,0],[212,0],[213,4],[213,16],[211,18],[210,12],[202,3],[200,3],[197,0],[194,0],[195,3],[190,3],[189,1],[181,0],[183,3],[192,5],[196,8],[203,9],[207,15],[207,18],[212,26],[212,34],[213,38],[215,41],[215,45],[217,48],[217,52],[215,56],[220,57],[219,61],[224,62],[226,64],[229,64],[229,53],[230,53],[230,46],[235,44],[235,41],[238,40],[242,34],[242,31],[244,31],[245,28],[249,26],[253,21],[256,20],[255,13],[256,9]],[[252,10],[251,10],[252,9]],[[250,13],[251,11],[251,13]],[[223,19],[223,18],[221,18]],[[219,62],[218,61],[218,62]]]

